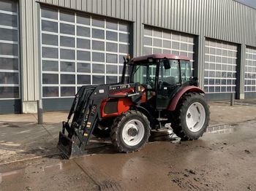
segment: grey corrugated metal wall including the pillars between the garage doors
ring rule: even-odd
[[[37,2],[134,22],[135,56],[143,52],[143,24],[198,35],[197,62],[201,85],[203,85],[205,36],[256,47],[256,10],[233,0],[39,0]],[[24,101],[33,101],[39,95],[37,5],[34,0],[20,0]]]

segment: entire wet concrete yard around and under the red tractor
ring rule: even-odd
[[[91,140],[83,157],[62,160],[56,144],[67,112],[0,115],[0,190],[256,190],[256,100],[212,102],[208,133],[179,142],[151,133],[140,152]]]

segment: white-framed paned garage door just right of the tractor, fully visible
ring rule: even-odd
[[[206,93],[235,93],[236,44],[206,39],[205,54],[204,89]]]

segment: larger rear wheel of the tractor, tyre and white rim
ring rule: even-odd
[[[182,141],[198,139],[206,132],[210,111],[203,95],[187,93],[179,101],[173,116],[173,132]]]

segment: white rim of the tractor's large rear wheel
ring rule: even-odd
[[[197,132],[203,128],[206,121],[206,109],[199,102],[189,106],[186,114],[187,127],[192,132]]]

